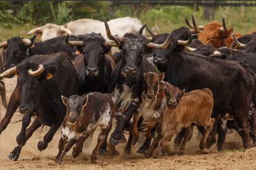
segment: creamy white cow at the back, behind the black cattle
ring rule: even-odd
[[[108,25],[113,35],[123,36],[125,33],[133,30],[139,31],[140,27],[142,27],[142,22],[137,18],[123,17],[109,20]],[[106,36],[104,22],[93,19],[75,20],[67,23],[66,25],[47,23],[44,26],[34,28],[27,34],[36,33],[41,36],[42,41],[46,41],[47,39],[55,38],[56,36],[65,36],[67,34],[79,35],[92,32],[101,33],[106,41],[110,41]],[[145,30],[143,31],[143,35],[145,35]]]

